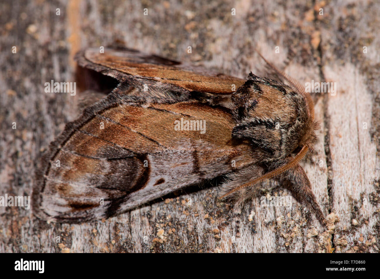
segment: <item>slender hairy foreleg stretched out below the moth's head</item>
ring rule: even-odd
[[[326,225],[325,215],[312,192],[310,180],[299,164],[282,173],[280,182],[290,189],[296,199],[309,206],[317,214],[323,225]]]

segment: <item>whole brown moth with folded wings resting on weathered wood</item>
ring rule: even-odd
[[[290,77],[274,68],[291,87],[252,73],[242,80],[131,49],[76,59],[117,86],[93,94],[45,152],[33,188],[39,218],[108,218],[226,175],[220,197],[236,211],[277,177],[326,224],[298,164],[316,141],[313,101]]]

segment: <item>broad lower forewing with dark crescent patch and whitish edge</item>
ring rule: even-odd
[[[206,132],[175,129],[181,119],[205,123]],[[111,93],[53,143],[35,209],[59,222],[107,218],[252,164],[249,145],[232,144],[233,126],[221,108],[194,101],[131,105],[130,96]]]

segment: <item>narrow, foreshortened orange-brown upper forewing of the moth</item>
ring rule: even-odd
[[[181,88],[188,92],[231,94],[232,88],[244,84],[243,79],[131,49],[108,49],[104,54],[99,53],[98,49],[86,49],[78,53],[77,60],[80,66],[117,79],[134,76],[147,81],[145,84],[154,79],[157,81],[155,86],[160,82],[160,86],[173,91]]]

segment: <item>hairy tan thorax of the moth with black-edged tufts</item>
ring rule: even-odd
[[[232,136],[249,139],[266,153],[266,161],[285,159],[304,145],[313,150],[318,125],[302,95],[287,85],[250,73],[231,95],[230,107],[237,123]]]

